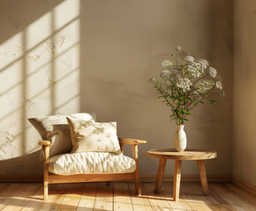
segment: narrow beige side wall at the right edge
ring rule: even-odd
[[[234,2],[233,174],[256,186],[256,2]]]

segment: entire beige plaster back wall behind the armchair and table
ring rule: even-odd
[[[147,149],[173,147],[176,127],[148,79],[177,45],[218,69],[226,92],[216,106],[192,111],[188,148],[215,149],[207,172],[231,173],[231,0],[32,3],[0,3],[0,174],[41,172],[39,136],[27,117],[75,112],[117,120],[119,136],[147,140],[139,147],[140,173],[155,174],[158,161]],[[198,173],[195,163],[183,167]]]

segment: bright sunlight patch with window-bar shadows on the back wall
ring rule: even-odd
[[[24,28],[0,44],[0,160],[39,149],[27,118],[79,112],[79,1]]]

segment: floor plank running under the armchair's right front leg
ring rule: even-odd
[[[133,211],[153,211],[154,210],[151,207],[149,200],[147,199],[147,195],[145,195],[143,186],[142,186],[141,196],[136,195],[134,183],[129,183],[128,186],[130,190]]]

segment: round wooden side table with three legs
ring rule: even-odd
[[[174,181],[173,181],[173,200],[179,199],[179,187],[181,178],[182,160],[196,160],[200,171],[200,181],[204,195],[208,195],[207,173],[204,160],[213,159],[217,153],[212,150],[185,149],[177,152],[175,149],[151,149],[147,151],[147,156],[159,158],[158,172],[154,187],[154,193],[160,193],[162,186],[162,176],[167,159],[175,160]]]

